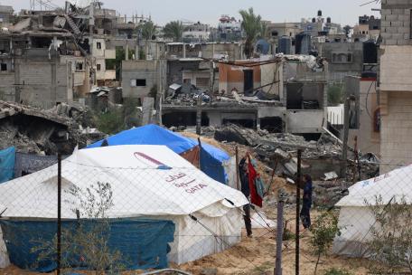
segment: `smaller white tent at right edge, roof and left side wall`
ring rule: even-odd
[[[336,204],[341,207],[338,225],[342,228],[342,234],[333,242],[335,254],[368,256],[370,230],[376,225],[369,205],[377,205],[378,197],[382,198],[379,202],[382,207],[402,199],[412,204],[412,166],[398,168],[349,188],[349,194]]]

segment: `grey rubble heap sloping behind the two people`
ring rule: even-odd
[[[210,135],[211,129],[208,129]],[[275,166],[276,175],[294,177],[297,172],[297,150],[302,150],[303,173],[308,173],[314,179],[323,179],[325,173],[341,172],[342,145],[338,140],[327,133],[323,133],[318,140],[307,141],[302,136],[286,133],[268,133],[266,130],[241,128],[229,124],[214,128],[214,138],[220,142],[234,142],[253,147],[259,159],[267,166]],[[353,161],[348,159],[347,178],[354,178]],[[377,175],[379,162],[360,161],[360,179]],[[358,172],[356,172],[358,173]],[[358,173],[359,174],[359,173]]]

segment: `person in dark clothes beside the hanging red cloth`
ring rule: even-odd
[[[239,178],[240,178],[240,190],[241,192],[248,198],[250,196],[250,187],[249,187],[249,180],[248,180],[248,164],[246,160],[248,158],[248,153],[240,160],[239,162]],[[245,220],[245,227],[248,237],[253,237],[252,234],[252,222],[250,220],[250,203],[243,205],[243,219]]]

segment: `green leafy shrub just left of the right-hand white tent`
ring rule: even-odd
[[[314,267],[314,274],[316,274],[321,256],[329,251],[335,236],[341,234],[338,216],[332,212],[322,213],[312,224],[311,232],[310,245],[317,256]]]

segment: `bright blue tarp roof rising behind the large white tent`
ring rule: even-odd
[[[131,128],[114,136],[100,140],[87,148],[101,147],[107,140],[108,146],[119,145],[164,145],[176,154],[183,154],[197,147],[198,141],[189,137],[183,137],[160,126],[150,124],[139,128]],[[201,143],[201,171],[211,176],[222,184],[227,183],[224,162],[229,161],[230,156],[207,143]]]

